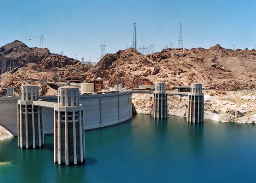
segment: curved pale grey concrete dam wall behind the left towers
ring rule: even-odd
[[[17,135],[17,100],[20,97],[0,97],[0,125]],[[57,96],[40,97],[43,101],[56,102]],[[80,95],[83,104],[84,127],[95,129],[121,123],[132,116],[131,92],[98,95]],[[42,108],[44,134],[53,134],[52,108]]]

